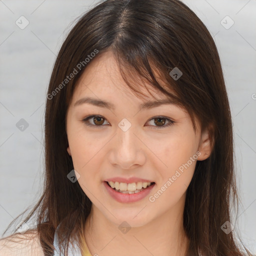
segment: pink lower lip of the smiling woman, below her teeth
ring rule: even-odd
[[[106,181],[104,181],[103,183],[104,183],[104,186],[105,186],[106,190],[108,191],[108,193],[118,202],[139,201],[139,200],[143,199],[146,195],[148,195],[149,192],[151,191],[151,189],[153,188],[153,186],[155,185],[155,183],[153,183],[152,185],[146,187],[145,189],[143,189],[142,191],[137,192],[137,193],[124,194],[124,193],[115,191],[113,188],[111,188],[108,185],[108,183]]]

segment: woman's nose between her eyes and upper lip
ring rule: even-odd
[[[109,161],[120,169],[134,169],[146,160],[145,145],[141,136],[136,134],[133,126],[123,131],[117,127],[116,134],[110,145]]]

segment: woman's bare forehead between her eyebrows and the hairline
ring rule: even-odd
[[[132,101],[137,102],[148,99],[168,98],[167,95],[149,85],[145,79],[142,79],[129,67],[127,67],[127,74],[125,78],[129,80],[132,87],[135,87],[142,94],[136,94],[124,81],[113,53],[111,51],[101,53],[91,60],[79,77],[73,92],[73,98],[76,99],[81,94],[94,94],[94,97],[100,94],[108,98],[130,97]],[[157,80],[161,80],[157,73],[156,77]],[[167,86],[166,83],[164,84],[163,80],[161,80],[161,84],[168,91],[175,94],[170,86]]]

